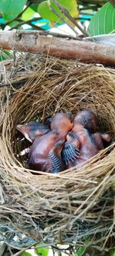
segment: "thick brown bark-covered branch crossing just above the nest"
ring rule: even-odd
[[[38,31],[0,32],[0,48],[18,52],[44,53],[81,62],[115,66],[115,47],[82,40],[68,40],[44,35]]]

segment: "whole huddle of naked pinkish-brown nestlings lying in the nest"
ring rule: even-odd
[[[69,113],[60,112],[44,124],[30,121],[17,129],[33,142],[27,165],[37,171],[80,168],[112,142],[110,135],[97,133],[97,117],[88,110],[78,111],[74,120]]]

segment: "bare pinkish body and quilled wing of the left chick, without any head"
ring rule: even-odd
[[[41,139],[36,138],[28,155],[27,165],[37,171],[58,173],[64,168],[61,158],[61,150],[64,147],[64,140],[51,131],[43,135]]]

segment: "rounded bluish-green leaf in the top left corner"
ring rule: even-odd
[[[11,21],[22,12],[27,0],[0,0],[0,12],[3,18]]]

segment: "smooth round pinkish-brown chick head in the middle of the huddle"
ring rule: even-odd
[[[51,121],[51,130],[58,133],[61,138],[65,138],[68,131],[73,128],[73,121],[70,113],[58,113]]]

